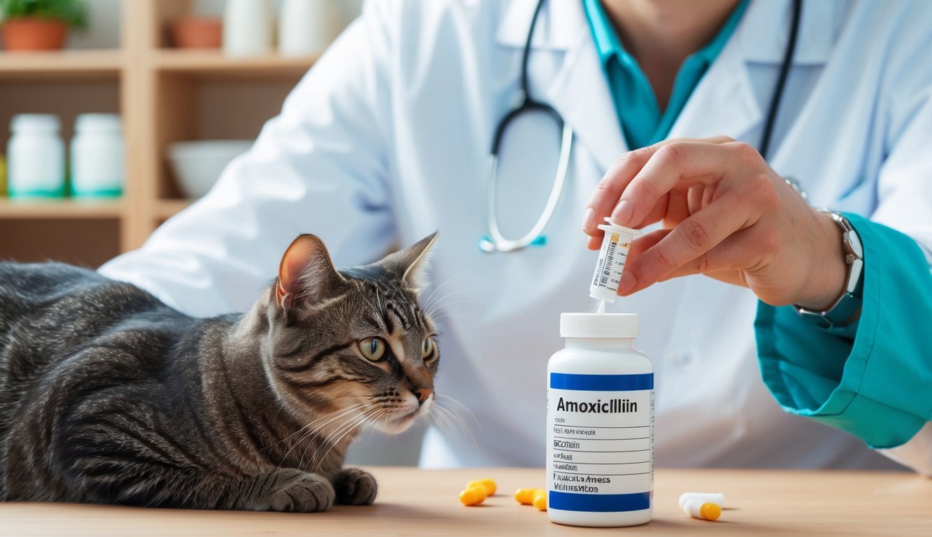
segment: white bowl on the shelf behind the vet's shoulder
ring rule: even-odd
[[[169,145],[178,186],[188,198],[207,194],[226,165],[245,153],[254,140],[199,140]]]

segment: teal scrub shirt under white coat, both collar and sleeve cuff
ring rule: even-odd
[[[599,1],[583,0],[631,148],[665,139],[747,2],[683,62],[661,114],[650,82],[625,52]],[[790,306],[759,302],[754,329],[761,376],[787,412],[855,434],[870,447],[897,447],[932,420],[932,350],[925,339],[932,332],[932,272],[907,235],[857,214],[845,216],[864,247],[859,320],[825,329]]]

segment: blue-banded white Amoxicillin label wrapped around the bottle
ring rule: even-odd
[[[551,373],[550,509],[638,511],[653,490],[653,374]]]

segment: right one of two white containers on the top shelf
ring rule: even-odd
[[[343,18],[335,0],[284,0],[279,21],[282,56],[320,54],[336,39]]]

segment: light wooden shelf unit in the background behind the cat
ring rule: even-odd
[[[62,117],[119,113],[127,183],[118,200],[0,198],[0,259],[55,259],[96,267],[137,248],[183,210],[166,150],[173,142],[254,138],[316,57],[228,58],[219,50],[170,48],[165,29],[189,0],[120,0],[117,49],[0,51],[0,152],[9,119],[23,112]]]

